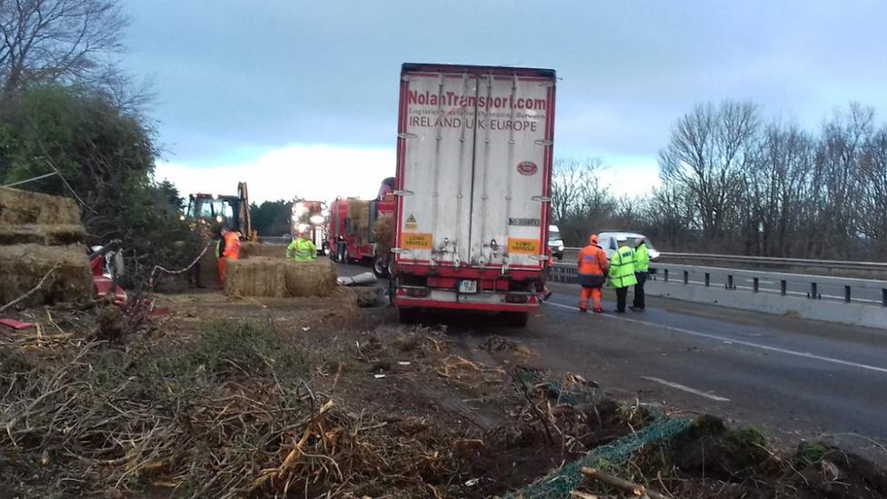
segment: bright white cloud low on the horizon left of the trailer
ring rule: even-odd
[[[182,195],[235,194],[249,185],[250,201],[301,197],[332,201],[336,196],[373,198],[387,176],[394,176],[394,148],[288,145],[253,161],[212,168],[158,162],[154,178],[169,180]]]

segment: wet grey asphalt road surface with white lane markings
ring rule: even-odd
[[[887,332],[655,297],[643,313],[580,314],[578,287],[551,287],[526,329],[494,316],[430,320],[449,323],[457,340],[511,337],[539,354],[533,364],[582,374],[623,398],[719,414],[793,441],[832,435],[887,464],[867,440],[887,444]],[[613,296],[605,298],[613,311]]]

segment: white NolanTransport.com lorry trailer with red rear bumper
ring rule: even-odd
[[[555,73],[405,64],[392,297],[423,309],[503,312],[525,325],[550,264]]]

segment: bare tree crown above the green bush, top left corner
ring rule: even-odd
[[[0,97],[31,83],[103,83],[127,24],[117,0],[0,0]]]

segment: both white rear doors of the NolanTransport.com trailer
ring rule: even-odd
[[[553,92],[548,70],[404,66],[399,264],[543,268]]]

